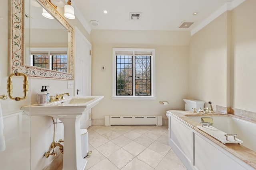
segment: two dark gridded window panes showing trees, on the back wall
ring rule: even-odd
[[[116,95],[133,93],[133,72],[131,55],[116,55]],[[135,95],[151,95],[151,56],[135,56]]]

